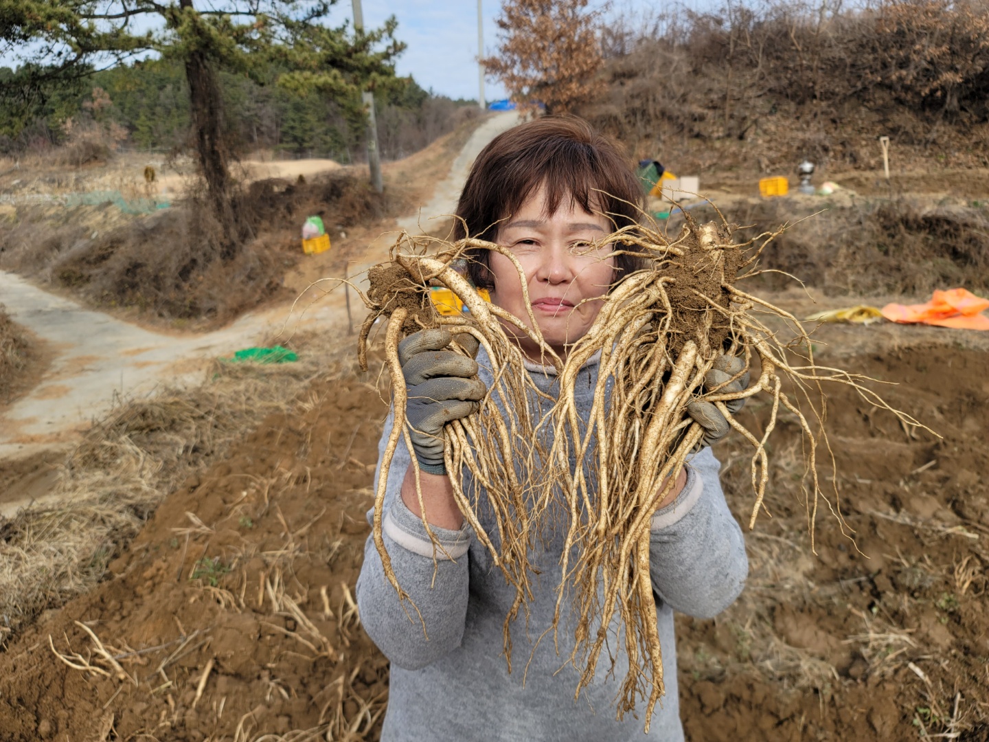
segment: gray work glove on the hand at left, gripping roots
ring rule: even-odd
[[[477,379],[478,362],[446,349],[452,335],[445,329],[423,329],[399,343],[399,363],[405,376],[408,419],[415,458],[427,474],[446,474],[443,464],[443,425],[477,412],[488,387]],[[457,342],[475,355],[478,341],[459,333]],[[472,378],[475,377],[475,378]]]

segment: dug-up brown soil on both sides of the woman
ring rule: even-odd
[[[713,620],[677,619],[688,739],[914,740],[922,728],[989,739],[986,351],[953,344],[955,333],[917,344],[899,327],[895,343],[879,344],[874,328],[835,329],[832,340],[867,349],[835,343],[822,360],[900,382],[882,387],[884,398],[944,439],[908,434],[852,390],[829,389],[847,527],[822,505],[815,556],[795,424],[781,422],[770,439],[772,517],[748,535],[746,592]],[[386,413],[373,374],[317,382],[295,414],[269,417],[165,501],[97,590],[12,641],[0,654],[5,742],[252,740],[327,725],[377,739],[387,661],[344,590],[353,594],[370,530]],[[755,429],[767,414],[757,401],[742,413]],[[747,522],[747,451],[732,437],[716,453]],[[106,663],[97,666],[109,678],[55,658],[49,636],[66,657],[97,664],[74,621],[122,655],[136,686]]]

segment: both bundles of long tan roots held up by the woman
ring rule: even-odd
[[[602,650],[615,651],[609,637],[611,641],[620,637],[624,646],[617,649],[627,655],[629,670],[622,681],[617,713],[621,717],[634,711],[639,699],[645,699],[647,730],[655,704],[664,694],[656,599],[650,580],[650,523],[704,432],[686,415],[687,405],[691,401],[714,404],[752,444],[755,501],[750,527],[764,509],[769,474],[766,441],[781,409],[799,422],[805,439],[805,496],[812,533],[821,500],[841,521],[837,503],[819,485],[817,454],[819,449],[827,450],[821,426],[823,382],[851,385],[904,424],[922,426],[889,408],[862,385],[870,380],[815,364],[809,337],[796,318],[738,288],[739,282],[762,272],[758,258],[779,232],[743,243],[733,242],[732,232],[723,219],[697,225],[688,216],[676,235],[637,226],[590,245],[594,254],[600,254],[602,247],[610,247],[612,254],[635,254],[644,258],[647,267],[621,277],[605,297],[595,300],[602,305],[596,320],[568,348],[565,359],[545,342],[534,317],[517,318],[486,302],[458,270],[476,248],[499,252],[514,263],[524,293],[521,266],[509,250],[492,242],[464,239],[451,243],[404,234],[393,248],[391,262],[369,271],[371,288],[364,297],[371,310],[360,334],[359,352],[365,367],[369,333],[380,318],[388,318],[385,353],[393,381],[395,425],[376,493],[374,539],[385,573],[400,598],[407,600],[408,596],[395,578],[382,536],[388,472],[400,438],[405,437],[411,450],[398,343],[410,332],[444,325],[454,333],[454,348],[461,352],[467,351],[456,342],[458,333],[477,338],[487,351],[494,376],[480,410],[448,423],[443,434],[447,471],[466,470],[472,475],[450,478],[460,510],[515,589],[515,603],[504,624],[509,670],[509,627],[532,597],[533,572],[527,556],[548,525],[547,519],[559,518],[562,511],[566,543],[553,631],[558,630],[565,609],[577,616],[569,657],[581,673],[576,693],[595,677]],[[469,313],[440,316],[429,300],[430,286],[437,285],[451,290]],[[792,330],[788,341],[759,319],[764,314],[785,321]],[[540,391],[525,369],[526,356],[515,340],[523,334],[541,348],[543,363],[555,367],[558,386],[552,396]],[[580,369],[598,353],[597,386],[587,417],[575,400],[575,382]],[[705,375],[724,353],[741,358],[744,368],[725,384],[705,387]],[[725,389],[750,371],[755,381],[748,389]],[[768,424],[760,435],[747,429],[728,406],[754,395],[765,395],[771,403]],[[833,458],[830,463],[834,466]],[[418,490],[414,456],[412,466]],[[478,490],[465,491],[464,481],[476,483]],[[487,511],[494,514],[493,533],[479,517],[480,488],[485,490]],[[423,523],[431,534],[425,514]],[[616,619],[622,629],[617,633]]]

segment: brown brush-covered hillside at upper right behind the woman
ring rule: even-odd
[[[787,0],[626,14],[603,30],[606,85],[580,113],[675,172],[788,172],[802,157],[874,170],[880,133],[901,163],[984,166],[984,7]]]

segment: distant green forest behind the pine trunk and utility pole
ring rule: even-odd
[[[16,89],[18,73],[0,67],[0,83]],[[365,159],[363,117],[319,93],[259,85],[221,71],[225,127],[234,149],[268,148],[293,157]],[[382,156],[398,159],[421,149],[477,114],[477,102],[424,90],[413,79],[376,97]],[[38,150],[62,143],[75,126],[113,125],[120,144],[168,152],[189,135],[189,92],[181,62],[136,61],[48,86],[14,115],[0,100],[0,151]],[[349,107],[351,112],[352,107]],[[10,114],[10,115],[8,115]],[[66,127],[66,122],[68,126]]]

